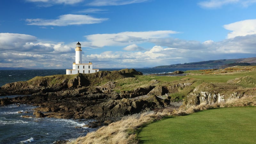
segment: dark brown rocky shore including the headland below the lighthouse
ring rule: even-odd
[[[157,96],[165,95],[175,89],[177,91],[179,86],[176,85],[158,87],[153,84],[133,91],[113,91],[114,80],[136,75],[142,75],[142,73],[134,69],[123,69],[112,72],[100,71],[89,75],[35,77],[25,82],[14,82],[2,86],[0,95],[24,94],[27,96],[0,99],[0,104],[20,103],[38,106],[34,109],[36,117],[97,120],[88,127],[107,125],[120,120],[122,116],[172,107],[169,99]],[[106,81],[106,83],[98,85],[100,81]],[[158,81],[154,80],[152,83],[156,84]]]

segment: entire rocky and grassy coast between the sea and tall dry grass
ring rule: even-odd
[[[102,71],[90,75],[35,77],[29,81],[2,86],[1,93],[7,95],[13,92],[31,95],[4,98],[1,104],[39,106],[35,110],[47,117],[98,118],[100,125],[95,126],[104,127],[122,120],[123,116],[135,113],[143,115],[144,112],[171,108],[173,101],[183,100],[181,106],[172,109],[182,115],[182,110],[187,111],[204,102],[213,107],[227,100],[253,96],[256,92],[253,85],[256,80],[255,69],[231,67],[197,70],[177,77],[141,75],[133,69]]]

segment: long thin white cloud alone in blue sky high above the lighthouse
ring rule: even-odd
[[[28,25],[38,26],[68,26],[68,25],[82,25],[82,24],[94,24],[101,23],[107,18],[94,18],[89,15],[77,15],[77,14],[65,14],[59,16],[58,19],[26,19]]]

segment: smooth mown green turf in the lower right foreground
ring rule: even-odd
[[[256,143],[256,107],[218,108],[142,128],[140,143]]]

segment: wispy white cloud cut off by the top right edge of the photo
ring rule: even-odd
[[[256,0],[206,0],[199,2],[198,4],[203,8],[220,8],[227,4],[240,4],[247,7],[254,3],[256,3]]]

